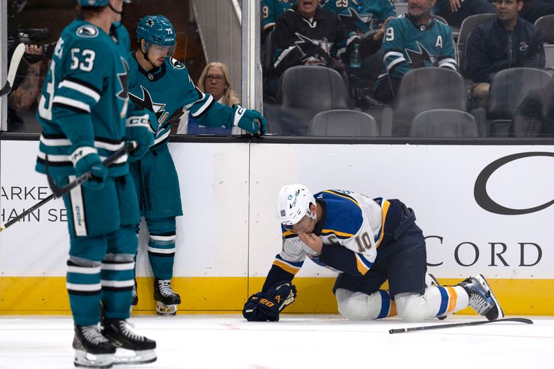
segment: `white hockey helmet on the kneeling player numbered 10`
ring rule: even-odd
[[[281,224],[290,228],[300,222],[304,215],[316,219],[310,204],[316,204],[316,199],[305,186],[295,183],[281,188],[277,197],[277,216]]]

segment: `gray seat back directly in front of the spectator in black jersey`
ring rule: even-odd
[[[321,111],[350,109],[350,96],[341,75],[325,66],[287,69],[281,76],[279,100],[280,109],[295,120],[283,122],[287,127],[278,129],[285,135],[305,136],[312,118]]]

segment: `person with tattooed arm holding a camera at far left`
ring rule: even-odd
[[[25,131],[24,120],[19,114],[30,109],[40,95],[42,46],[25,45],[22,60],[27,67],[27,72],[22,80],[18,75],[15,80],[17,87],[8,95],[8,132]]]

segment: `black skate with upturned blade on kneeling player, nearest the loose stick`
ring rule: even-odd
[[[458,283],[458,286],[462,286],[467,295],[470,296],[470,307],[477,313],[485,316],[490,321],[504,317],[497,297],[492,293],[483,274],[467,278]]]

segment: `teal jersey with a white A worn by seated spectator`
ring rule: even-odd
[[[458,67],[452,31],[435,19],[427,25],[416,24],[405,15],[391,19],[383,37],[382,51],[384,66],[374,91],[387,78],[400,80],[411,69],[440,66],[456,71]]]

